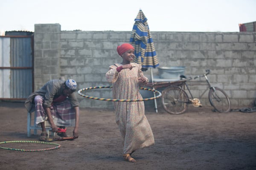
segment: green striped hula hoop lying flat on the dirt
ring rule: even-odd
[[[47,150],[53,150],[61,147],[60,144],[55,143],[48,143],[48,142],[38,142],[38,141],[4,141],[0,142],[0,144],[5,143],[38,143],[38,144],[52,144],[57,145],[56,147],[46,148],[46,149],[35,149],[35,150],[27,150],[27,149],[15,149],[15,148],[9,148],[9,147],[0,147],[0,149],[6,149],[6,150],[16,150],[16,151],[24,151],[24,152],[38,152],[38,151],[47,151]]]

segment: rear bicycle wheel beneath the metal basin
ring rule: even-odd
[[[186,92],[177,87],[170,86],[162,91],[162,105],[170,114],[184,113],[188,107],[189,97]]]

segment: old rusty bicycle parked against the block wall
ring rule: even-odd
[[[209,102],[216,111],[221,113],[227,113],[230,111],[230,99],[227,94],[220,88],[213,87],[207,75],[210,73],[210,70],[206,70],[206,74],[198,75],[194,77],[197,79],[199,77],[204,77],[205,81],[200,82],[207,82],[208,88],[199,96],[199,99],[204,95],[206,91],[209,90],[208,98]],[[169,87],[165,88],[162,91],[162,105],[163,108],[170,114],[181,114],[186,111],[189,104],[194,105],[195,107],[200,107],[201,103],[200,100],[194,98],[192,93],[188,87],[187,81],[191,80],[192,77],[186,78],[185,76],[180,76],[181,81],[179,86],[170,85]],[[188,94],[185,91],[189,91],[191,99],[189,99]]]

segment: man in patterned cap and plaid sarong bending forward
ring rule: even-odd
[[[58,132],[58,128],[74,126],[73,137],[78,138],[79,101],[74,93],[76,87],[76,81],[73,79],[67,81],[53,79],[26,99],[27,111],[35,111],[36,124],[41,124],[40,141],[47,139],[45,120],[49,121],[53,132]],[[61,137],[67,137],[66,132],[57,134]]]

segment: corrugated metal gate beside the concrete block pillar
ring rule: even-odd
[[[0,36],[0,100],[25,100],[34,91],[33,36]]]

